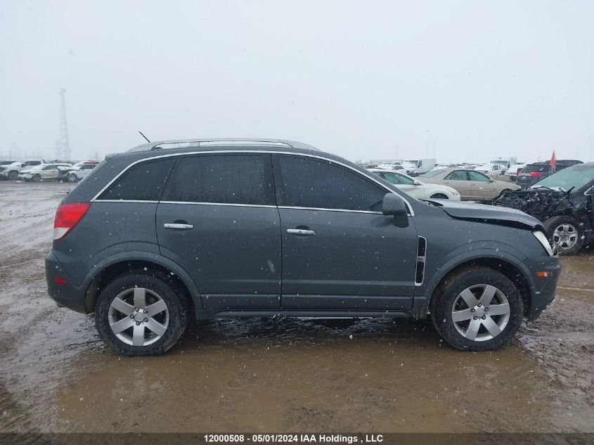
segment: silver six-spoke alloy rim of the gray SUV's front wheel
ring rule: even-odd
[[[508,297],[495,286],[472,285],[454,300],[451,318],[458,333],[467,340],[491,340],[503,332],[510,320]]]

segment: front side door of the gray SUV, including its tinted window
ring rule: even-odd
[[[412,221],[396,227],[382,214],[389,189],[336,162],[300,155],[275,155],[274,175],[283,309],[412,307],[417,235]]]

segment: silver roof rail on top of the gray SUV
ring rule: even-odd
[[[297,141],[288,141],[286,139],[269,138],[209,138],[209,139],[174,139],[171,141],[156,141],[143,143],[141,146],[131,148],[128,151],[144,150],[171,150],[174,148],[186,147],[221,147],[221,146],[271,146],[285,148],[304,148],[308,150],[318,150],[314,146]]]

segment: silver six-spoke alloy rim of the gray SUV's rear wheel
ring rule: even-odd
[[[117,338],[132,346],[159,340],[169,325],[169,309],[153,290],[132,288],[120,292],[110,304],[108,320]]]

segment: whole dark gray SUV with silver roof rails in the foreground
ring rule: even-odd
[[[49,295],[95,314],[117,354],[154,355],[195,319],[430,317],[457,349],[502,347],[553,300],[557,253],[513,209],[416,200],[292,141],[147,143],[61,202]]]

